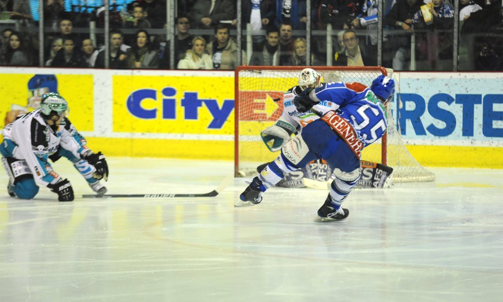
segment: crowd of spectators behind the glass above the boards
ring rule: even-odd
[[[46,32],[40,45],[39,17],[32,16],[31,2],[0,0],[0,65],[104,68],[107,59],[109,68],[115,69],[170,69],[173,61],[176,69],[233,70],[239,62],[262,66],[378,62],[378,0],[312,0],[311,8],[305,0],[238,0],[240,29],[236,1],[178,0],[171,6],[166,1],[124,0],[110,5],[105,58],[104,7],[68,9],[68,0],[44,0],[39,12],[44,14]],[[454,1],[459,1],[458,70],[503,71],[501,0],[384,1],[381,65],[395,70],[452,70]],[[175,10],[175,31],[169,39],[166,7]],[[96,35],[91,35],[91,22],[98,29]],[[238,30],[242,49],[236,40]],[[414,62],[420,64],[413,67]]]

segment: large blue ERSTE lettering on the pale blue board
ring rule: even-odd
[[[401,93],[395,97],[402,101],[402,106],[395,103],[395,111],[399,112],[398,120],[403,135],[409,132],[420,136],[428,133],[439,137],[450,136],[456,124],[461,123],[462,136],[474,136],[474,127],[478,127],[486,138],[503,138],[503,111],[500,109],[503,107],[503,94],[456,94],[452,97],[437,93],[428,102],[414,93]],[[427,124],[421,120],[428,115],[435,123]],[[407,129],[407,125],[412,125],[414,133]]]

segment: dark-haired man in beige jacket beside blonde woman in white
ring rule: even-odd
[[[213,61],[213,69],[234,70],[238,67],[238,54],[236,41],[229,37],[229,28],[226,24],[218,24],[215,29],[215,41],[206,45],[206,52]],[[245,58],[244,51],[242,58]]]

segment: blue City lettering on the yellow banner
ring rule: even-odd
[[[176,119],[177,99],[173,98],[177,94],[177,90],[172,87],[162,89],[162,119]],[[142,101],[152,99],[157,101],[157,90],[155,89],[139,89],[132,92],[127,98],[127,108],[129,112],[141,119],[156,119],[158,117],[158,108],[145,109],[142,107]],[[183,93],[183,98],[180,100],[180,106],[184,107],[185,120],[198,120],[199,108],[206,106],[213,120],[208,125],[208,129],[221,129],[227,121],[234,109],[234,100],[223,100],[221,107],[218,106],[216,99],[200,99],[198,92]]]

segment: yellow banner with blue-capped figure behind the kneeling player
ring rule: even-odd
[[[61,94],[70,107],[70,121],[79,131],[93,131],[94,90],[91,74],[0,73],[0,116],[4,123],[39,108],[42,95]]]

